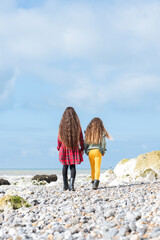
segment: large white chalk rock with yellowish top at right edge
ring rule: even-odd
[[[102,174],[100,180],[109,186],[150,182],[160,179],[160,151],[141,154],[137,158],[121,160],[114,170]]]

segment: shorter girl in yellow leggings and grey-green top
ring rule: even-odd
[[[93,189],[99,185],[101,159],[106,149],[105,137],[113,140],[100,118],[93,118],[85,131],[85,153],[89,156]]]

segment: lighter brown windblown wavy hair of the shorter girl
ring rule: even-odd
[[[85,142],[88,144],[101,144],[103,136],[113,140],[105,129],[102,120],[100,118],[93,118],[86,128]]]

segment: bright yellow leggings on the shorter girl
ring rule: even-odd
[[[98,149],[92,149],[89,151],[88,155],[89,155],[89,161],[91,165],[92,181],[94,181],[94,179],[99,180],[102,154]]]

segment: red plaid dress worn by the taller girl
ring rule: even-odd
[[[83,162],[82,152],[84,150],[84,141],[82,131],[80,132],[80,146],[81,148],[77,148],[75,150],[67,149],[58,136],[58,146],[57,150],[59,151],[59,161],[62,165],[75,165]]]

